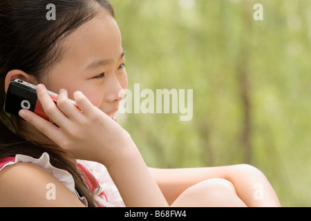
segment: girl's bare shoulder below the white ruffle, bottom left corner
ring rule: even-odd
[[[0,206],[82,206],[48,171],[23,162],[0,171],[0,198]]]

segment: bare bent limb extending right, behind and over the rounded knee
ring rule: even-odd
[[[247,164],[192,169],[151,169],[151,173],[169,204],[178,202],[176,199],[182,194],[185,195],[191,186],[220,178],[233,184],[238,198],[247,206],[281,206],[265,175]]]

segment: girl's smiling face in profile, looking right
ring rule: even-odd
[[[117,23],[102,10],[64,41],[62,59],[42,77],[48,90],[82,91],[94,106],[114,117],[128,82]]]

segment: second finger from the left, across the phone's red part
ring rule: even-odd
[[[37,85],[37,96],[42,108],[44,108],[44,112],[53,120],[53,122],[55,122],[55,124],[61,126],[62,124],[68,123],[68,117],[59,110],[50,98],[50,95],[48,95],[48,90],[46,90],[46,87],[43,84]]]

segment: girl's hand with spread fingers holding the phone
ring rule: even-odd
[[[59,90],[57,104],[44,85],[37,86],[37,97],[55,124],[29,110],[21,109],[19,115],[76,159],[109,166],[115,164],[115,157],[124,149],[135,148],[131,135],[82,92],[73,93],[79,109],[70,102],[64,89]]]

